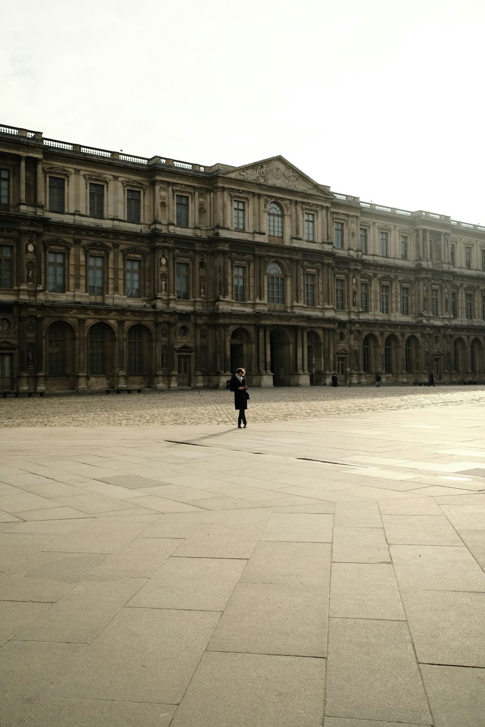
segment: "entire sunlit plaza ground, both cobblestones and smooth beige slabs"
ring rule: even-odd
[[[0,401],[1,727],[485,727],[483,387]]]

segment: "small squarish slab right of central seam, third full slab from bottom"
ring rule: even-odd
[[[390,563],[384,530],[334,528],[332,560],[336,563]]]

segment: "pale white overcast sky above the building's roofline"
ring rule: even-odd
[[[8,7],[7,7],[8,6]],[[0,124],[485,224],[484,0],[16,0]]]

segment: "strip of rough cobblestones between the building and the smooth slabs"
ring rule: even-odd
[[[292,387],[252,389],[248,421],[314,419],[333,414],[484,406],[484,386]],[[105,427],[228,424],[236,421],[227,390],[169,390],[120,395],[0,399],[0,426]]]

